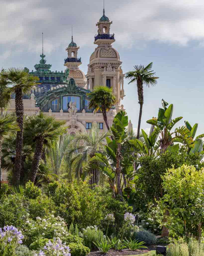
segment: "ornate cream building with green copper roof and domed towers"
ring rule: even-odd
[[[115,41],[114,34],[110,34],[109,18],[103,16],[96,24],[98,34],[94,44],[97,48],[90,57],[88,72],[85,74],[79,69],[82,64],[78,58],[79,47],[73,41],[73,35],[69,46],[66,48],[68,57],[65,59],[65,71],[51,71],[52,65],[46,64],[45,55],[42,52],[39,64],[34,66],[35,71],[30,74],[39,77],[39,84],[31,95],[24,97],[24,112],[27,115],[35,114],[42,110],[47,115],[54,116],[58,120],[65,120],[67,132],[76,134],[86,132],[93,124],[98,125],[101,131],[106,131],[102,113],[94,113],[88,104],[86,94],[95,86],[103,85],[113,88],[117,103],[107,113],[109,126],[117,111],[123,109],[120,100],[123,99],[123,77],[119,53],[112,47]],[[29,70],[25,68],[27,72]],[[9,111],[15,110],[15,95],[11,99]]]

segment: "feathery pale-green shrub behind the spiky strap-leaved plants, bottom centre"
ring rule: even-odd
[[[96,243],[97,241],[100,241],[104,237],[104,234],[100,229],[97,228],[97,226],[90,226],[83,229],[81,236],[84,239],[85,246],[92,249],[95,248],[93,242]]]

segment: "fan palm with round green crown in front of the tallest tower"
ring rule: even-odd
[[[110,130],[106,112],[116,103],[116,97],[112,89],[106,86],[98,86],[92,92],[87,93],[90,98],[89,107],[95,111],[101,111],[108,131]]]

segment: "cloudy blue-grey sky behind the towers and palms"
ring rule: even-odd
[[[159,77],[155,87],[144,87],[141,128],[157,116],[162,98],[173,104],[173,118],[183,116],[204,133],[204,4],[202,0],[109,0],[105,14],[113,21],[113,47],[119,52],[123,73],[134,65],[153,62]],[[96,22],[103,14],[103,0],[0,0],[0,66],[34,69],[42,52],[52,70],[61,71],[71,41],[80,46],[80,68],[87,72],[96,48]],[[136,84],[124,81],[126,96],[121,101],[137,128],[139,104]]]

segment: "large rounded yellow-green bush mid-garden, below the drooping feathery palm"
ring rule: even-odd
[[[105,196],[90,189],[87,183],[77,181],[60,184],[53,196],[59,215],[68,226],[72,222],[73,225],[77,223],[79,229],[101,223],[105,212],[104,199]]]

